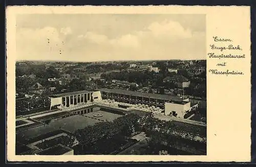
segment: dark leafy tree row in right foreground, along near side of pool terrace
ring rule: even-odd
[[[169,141],[169,145],[174,146],[173,142],[183,139],[192,145],[206,146],[205,141],[196,141],[196,136],[206,136],[205,128],[178,122],[160,121],[153,116],[153,113],[147,113],[143,117],[127,114],[117,118],[114,122],[101,122],[77,130],[75,136],[82,151],[85,151],[98,146],[98,143],[104,140],[110,140],[117,136],[132,136],[136,132],[145,132],[156,143],[158,140]],[[155,133],[163,135],[158,140],[154,140]]]

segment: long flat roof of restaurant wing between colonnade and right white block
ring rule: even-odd
[[[161,99],[161,100],[174,100],[179,102],[183,101],[182,98],[167,95],[167,94],[144,93],[139,91],[131,91],[131,90],[124,90],[124,89],[108,89],[108,88],[102,88],[99,90],[108,92],[108,93],[129,94],[131,96],[138,96],[138,97],[155,98],[155,99]]]

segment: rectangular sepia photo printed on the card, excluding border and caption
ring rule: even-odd
[[[205,14],[19,14],[15,29],[15,155],[207,154]]]

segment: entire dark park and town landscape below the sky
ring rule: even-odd
[[[206,60],[17,61],[16,155],[206,155]]]

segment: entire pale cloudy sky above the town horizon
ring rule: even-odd
[[[192,14],[18,15],[17,60],[206,59],[205,24]]]

